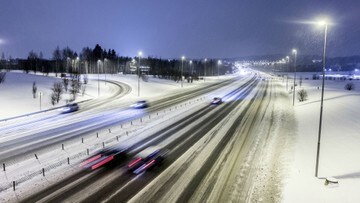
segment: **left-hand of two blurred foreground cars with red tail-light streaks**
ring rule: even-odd
[[[102,166],[114,166],[126,159],[127,150],[120,146],[105,148],[93,154],[91,157],[84,160],[80,167],[95,170]]]

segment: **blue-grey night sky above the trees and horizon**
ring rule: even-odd
[[[360,0],[1,0],[0,53],[52,57],[59,46],[115,49],[122,56],[226,58],[267,54],[360,54]]]

